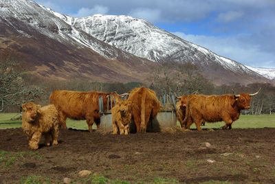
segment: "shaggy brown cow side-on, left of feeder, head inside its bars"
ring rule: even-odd
[[[100,128],[99,100],[102,95],[103,111],[107,111],[107,95],[113,95],[115,102],[120,101],[120,97],[116,93],[102,93],[98,91],[54,91],[50,95],[50,103],[56,106],[58,111],[59,121],[63,128],[67,128],[67,117],[72,119],[86,119],[89,126],[89,132],[92,131],[92,126],[96,122],[96,126]],[[109,109],[111,103],[109,103]],[[114,106],[114,104],[113,104]]]

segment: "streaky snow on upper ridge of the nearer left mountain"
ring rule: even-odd
[[[12,27],[17,27],[10,19],[18,19],[32,26],[34,30],[45,36],[54,38],[63,44],[76,44],[78,47],[89,47],[106,58],[118,57],[118,52],[110,47],[102,45],[96,38],[91,39],[89,34],[83,33],[76,27],[72,27],[62,19],[56,19],[56,12],[38,5],[34,1],[6,0],[8,5],[1,8],[0,17],[3,17]],[[18,8],[20,7],[20,8]],[[11,13],[12,12],[12,13]],[[34,19],[35,16],[35,19]],[[69,18],[69,16],[68,16]],[[24,34],[22,30],[17,30]]]

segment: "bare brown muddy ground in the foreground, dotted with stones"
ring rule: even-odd
[[[41,140],[35,151],[12,128],[0,130],[0,153],[0,183],[275,183],[275,128],[128,136],[63,129],[57,146]]]

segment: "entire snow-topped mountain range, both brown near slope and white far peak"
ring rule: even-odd
[[[32,73],[144,82],[157,63],[192,62],[216,84],[269,82],[239,62],[131,16],[77,19],[34,1],[2,0],[0,26],[0,49],[19,51],[29,68],[34,65]]]

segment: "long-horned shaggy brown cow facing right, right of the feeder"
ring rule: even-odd
[[[232,122],[239,119],[241,110],[250,108],[251,97],[259,91],[254,94],[239,95],[190,95],[183,124],[186,124],[186,128],[190,128],[194,122],[197,130],[201,130],[200,125],[203,122],[224,121],[223,129],[228,127],[231,129]]]

